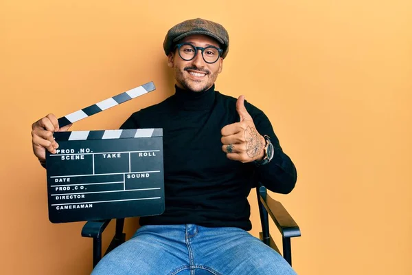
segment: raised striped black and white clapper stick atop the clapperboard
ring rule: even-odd
[[[148,92],[154,91],[155,89],[155,84],[153,82],[150,82],[129,91],[125,91],[122,94],[118,94],[117,96],[113,96],[79,111],[75,111],[74,113],[70,113],[69,115],[65,115],[62,118],[59,118],[58,126],[63,127],[73,122],[82,120],[83,118],[88,118],[91,115],[95,115],[96,113],[100,113],[101,111],[114,107],[118,104],[122,104],[130,99],[147,94]]]

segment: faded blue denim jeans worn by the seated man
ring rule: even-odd
[[[296,274],[275,250],[240,228],[145,225],[108,253],[93,275]]]

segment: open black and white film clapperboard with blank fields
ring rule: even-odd
[[[155,90],[150,82],[58,119],[66,126]],[[49,220],[95,221],[163,213],[163,131],[56,132],[46,151]]]

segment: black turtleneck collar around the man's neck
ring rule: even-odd
[[[174,85],[176,92],[174,94],[175,102],[179,108],[184,110],[205,110],[210,109],[215,101],[215,85],[212,85],[206,91],[190,91]]]

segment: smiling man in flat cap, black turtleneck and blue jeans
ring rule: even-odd
[[[254,180],[288,193],[297,173],[260,109],[215,91],[229,51],[218,23],[184,21],[163,43],[175,94],[133,113],[121,129],[163,128],[165,212],[141,217],[135,236],[93,274],[295,274],[282,256],[251,236],[247,196]],[[54,153],[54,115],[33,124],[34,154]]]

